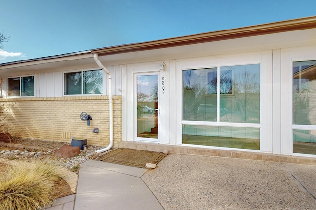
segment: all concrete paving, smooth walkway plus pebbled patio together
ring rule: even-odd
[[[316,209],[316,166],[169,154],[147,170],[89,160],[47,210]]]

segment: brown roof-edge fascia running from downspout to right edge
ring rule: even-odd
[[[312,28],[316,28],[316,16],[157,41],[105,47],[91,50],[91,53],[99,56],[113,55]]]

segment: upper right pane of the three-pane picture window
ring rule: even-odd
[[[260,64],[220,68],[220,121],[260,123]]]

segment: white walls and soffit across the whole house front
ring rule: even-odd
[[[159,81],[164,78],[165,94],[162,95],[159,88],[158,143],[167,145],[182,145],[182,124],[186,123],[182,120],[183,69],[260,63],[260,152],[293,155],[292,63],[316,60],[316,29],[100,56],[99,59],[111,72],[113,95],[122,95],[123,141],[135,140],[134,75],[159,72]],[[160,71],[162,62],[166,68]],[[98,69],[96,64],[91,62],[43,71],[8,73],[6,77],[2,76],[2,96],[6,97],[7,77],[32,74],[35,75],[35,97],[62,97],[64,72],[95,69]],[[108,95],[106,74],[103,81],[104,94]],[[199,124],[222,125],[213,122]],[[311,126],[311,129],[316,129],[316,126]]]

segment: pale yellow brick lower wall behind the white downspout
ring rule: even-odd
[[[71,137],[86,138],[88,145],[108,146],[109,97],[74,96],[49,98],[0,99],[7,107],[6,118],[1,124],[8,125],[12,136],[71,142]],[[91,117],[90,126],[80,120],[81,112]],[[92,133],[93,128],[99,133]],[[114,147],[122,140],[122,98],[113,97]]]

